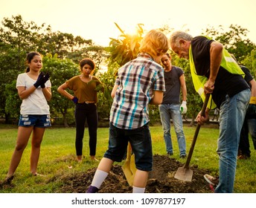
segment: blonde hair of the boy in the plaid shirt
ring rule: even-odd
[[[169,41],[164,33],[150,30],[141,41],[140,52],[149,53],[151,56],[160,56],[169,49]]]

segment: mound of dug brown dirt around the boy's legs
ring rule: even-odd
[[[150,172],[147,181],[146,193],[207,193],[211,192],[208,183],[203,175],[209,173],[208,170],[198,169],[196,165],[191,166],[193,170],[192,181],[180,181],[174,178],[177,169],[183,166],[178,160],[168,157],[167,155],[153,156],[153,171]],[[92,178],[95,175],[94,169],[89,169],[84,173],[61,178],[63,186],[59,190],[62,193],[85,193]],[[132,187],[129,186],[124,176],[121,166],[115,165],[106,180],[100,187],[100,193],[130,193]]]

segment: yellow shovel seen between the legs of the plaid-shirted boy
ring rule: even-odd
[[[125,178],[127,178],[127,182],[129,183],[129,186],[132,186],[133,178],[137,169],[135,166],[135,155],[132,154],[132,146],[130,143],[128,143],[128,146],[127,146],[127,160],[122,166],[122,169],[124,171]]]

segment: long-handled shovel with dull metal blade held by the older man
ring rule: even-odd
[[[210,97],[210,94],[206,94],[205,102],[202,105],[202,111],[201,111],[202,116],[205,115],[205,109],[206,109],[206,106],[208,104],[209,97]],[[193,154],[193,148],[195,147],[196,139],[197,139],[197,135],[199,133],[200,127],[201,126],[199,125],[199,123],[197,123],[196,131],[195,131],[195,134],[193,135],[193,140],[192,140],[192,143],[191,143],[191,149],[189,150],[188,158],[186,160],[185,166],[179,167],[176,174],[174,175],[174,178],[177,178],[177,179],[182,180],[182,181],[192,181],[193,171],[191,169],[189,169],[189,163],[191,162],[191,157],[192,157],[192,154]]]

